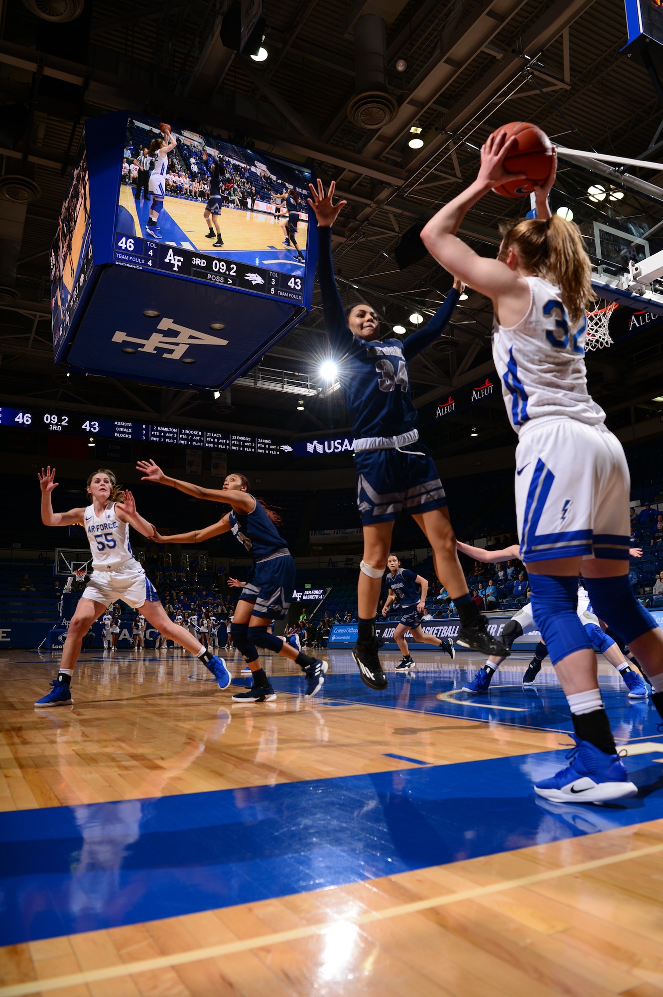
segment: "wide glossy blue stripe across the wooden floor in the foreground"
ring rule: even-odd
[[[249,903],[661,820],[663,770],[653,758],[627,758],[638,797],[601,808],[536,797],[533,781],[563,765],[564,752],[555,751],[5,813],[0,944]]]

